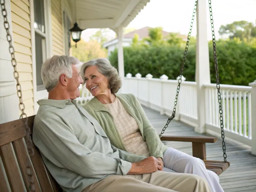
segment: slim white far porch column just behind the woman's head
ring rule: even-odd
[[[117,28],[117,36],[118,36],[118,73],[123,80],[124,79],[123,27]]]

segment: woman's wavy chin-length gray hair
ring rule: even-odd
[[[80,75],[84,80],[85,69],[90,66],[97,66],[98,71],[107,77],[108,79],[108,88],[112,93],[117,93],[122,86],[121,77],[118,75],[116,68],[114,68],[110,61],[106,58],[92,59],[85,62],[80,68]],[[85,81],[84,81],[85,83]]]

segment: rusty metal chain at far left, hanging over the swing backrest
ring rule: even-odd
[[[26,136],[27,136],[27,149],[28,149],[28,153],[29,153],[29,156],[30,158],[33,157],[34,155],[34,150],[33,150],[33,142],[31,140],[31,137],[30,137],[30,129],[28,127],[28,117],[26,115],[26,113],[24,112],[24,109],[25,109],[25,105],[22,101],[22,92],[21,92],[21,86],[20,86],[20,82],[19,82],[19,73],[17,72],[17,62],[16,62],[16,59],[15,59],[15,56],[14,56],[14,48],[12,46],[12,36],[10,34],[10,25],[9,25],[9,22],[7,20],[7,11],[6,11],[6,8],[5,8],[5,0],[0,0],[0,4],[1,4],[1,8],[2,8],[2,14],[3,14],[3,17],[4,17],[4,28],[6,29],[6,37],[7,37],[7,41],[9,42],[9,52],[11,53],[11,57],[12,57],[12,66],[14,68],[14,72],[13,72],[13,75],[14,75],[14,78],[16,79],[16,88],[17,88],[17,95],[19,97],[19,100],[20,100],[20,103],[19,103],[19,108],[21,110],[21,117],[22,117],[22,120],[23,120],[23,123],[25,125],[25,130],[26,130]],[[30,160],[28,158],[28,162],[27,162],[27,167],[26,167],[26,173],[28,175],[28,182],[29,182],[29,191],[35,191],[35,186],[34,186],[34,178],[33,178],[33,171],[32,171],[32,168],[31,168],[31,164],[30,164]]]

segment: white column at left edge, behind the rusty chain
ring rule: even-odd
[[[5,0],[7,20],[12,36],[11,1]],[[0,124],[19,119],[19,104],[16,94],[16,80],[13,76],[9,43],[4,28],[4,18],[0,8]],[[12,36],[13,38],[13,36]],[[12,43],[13,44],[13,43]]]

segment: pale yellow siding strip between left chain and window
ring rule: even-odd
[[[28,0],[11,0],[12,31],[22,100],[27,116],[34,115],[30,7]],[[21,111],[20,111],[21,114]]]

